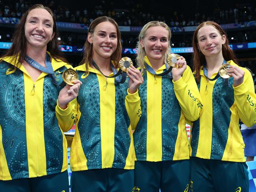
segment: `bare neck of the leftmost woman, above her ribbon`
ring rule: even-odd
[[[44,48],[32,48],[28,46],[26,55],[31,59],[34,59],[37,63],[45,63],[46,46]]]

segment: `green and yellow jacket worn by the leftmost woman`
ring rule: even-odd
[[[52,58],[58,82],[54,85],[44,72],[34,82],[24,66],[14,66],[13,57],[0,61],[0,180],[67,170],[67,141],[61,128],[74,124],[76,101],[65,110],[56,107],[56,101],[62,88],[61,73],[71,66]],[[59,124],[56,113],[59,122],[69,119],[69,124]]]

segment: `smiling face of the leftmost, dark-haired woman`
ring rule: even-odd
[[[45,9],[32,9],[26,18],[25,37],[29,48],[46,48],[54,37],[53,19]]]

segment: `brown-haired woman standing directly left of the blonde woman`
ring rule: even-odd
[[[132,129],[139,121],[137,89],[143,78],[132,66],[127,72],[129,80],[119,83],[121,77],[116,74],[121,51],[121,33],[115,20],[93,20],[82,65],[76,67],[83,86],[70,152],[72,192],[131,192],[134,186]]]

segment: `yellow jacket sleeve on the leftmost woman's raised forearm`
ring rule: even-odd
[[[58,105],[55,108],[56,117],[59,123],[59,127],[63,132],[69,131],[71,127],[78,121],[78,103],[77,100],[74,99],[69,102],[66,109],[61,109]]]

